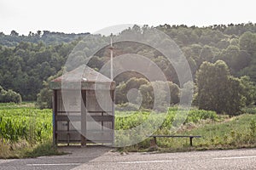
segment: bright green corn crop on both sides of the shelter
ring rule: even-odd
[[[131,129],[142,122],[147,121],[148,126],[158,128],[159,119],[164,117],[160,128],[170,129],[176,116],[177,108],[172,107],[168,113],[149,116],[148,111],[116,111],[115,129]],[[190,110],[184,123],[201,122],[210,119],[216,121],[218,116],[213,111]],[[52,111],[39,110],[33,106],[21,106],[0,104],[0,139],[7,139],[10,142],[17,142],[25,139],[29,143],[42,142],[52,138]]]

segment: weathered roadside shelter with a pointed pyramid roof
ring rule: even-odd
[[[115,83],[86,65],[50,82],[54,144],[111,144]]]

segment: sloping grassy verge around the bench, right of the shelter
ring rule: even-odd
[[[159,130],[157,133],[165,134]],[[158,147],[154,150],[160,152],[177,152],[190,150],[228,150],[238,148],[256,147],[256,115],[244,114],[226,119],[223,122],[200,122],[184,127],[177,132],[180,135],[201,135],[201,139],[193,139],[193,146],[189,139],[157,139]],[[140,144],[135,144],[119,151],[150,151],[150,139]]]

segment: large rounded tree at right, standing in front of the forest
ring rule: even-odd
[[[239,79],[230,76],[228,66],[222,60],[214,64],[203,62],[196,73],[198,92],[195,105],[200,109],[236,115],[244,105]]]

